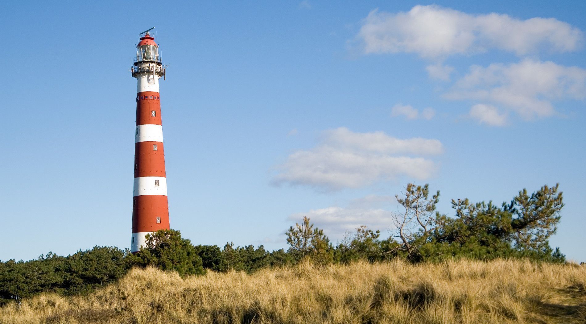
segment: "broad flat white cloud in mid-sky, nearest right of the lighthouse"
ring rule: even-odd
[[[322,141],[315,148],[289,155],[272,183],[332,191],[367,186],[403,175],[423,180],[435,173],[435,163],[405,154],[437,155],[441,152],[442,144],[437,139],[397,139],[384,132],[357,133],[341,127],[323,132]]]

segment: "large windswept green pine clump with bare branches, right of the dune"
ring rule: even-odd
[[[558,185],[543,186],[532,195],[523,189],[501,207],[492,202],[471,203],[452,199],[453,218],[435,212],[440,192],[429,197],[428,185],[408,184],[398,203],[404,212],[395,216],[397,244],[390,242],[385,253],[406,255],[409,260],[442,260],[469,257],[489,260],[525,257],[563,262],[548,238],[556,233],[564,206]]]

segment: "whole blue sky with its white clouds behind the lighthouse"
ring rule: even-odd
[[[560,2],[561,3],[561,2]],[[586,3],[4,2],[0,260],[130,246],[138,33],[154,34],[171,227],[285,248],[388,236],[407,182],[509,201],[560,183],[586,261]]]

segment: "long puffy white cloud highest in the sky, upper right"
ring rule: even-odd
[[[583,37],[580,29],[554,18],[470,15],[437,5],[417,5],[398,13],[375,9],[357,35],[366,54],[406,52],[430,58],[491,48],[517,55],[543,49],[563,53],[578,49]]]

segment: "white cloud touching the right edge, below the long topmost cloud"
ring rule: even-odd
[[[586,70],[532,59],[488,67],[475,65],[445,97],[488,101],[526,120],[547,117],[555,112],[551,101],[586,97]]]

